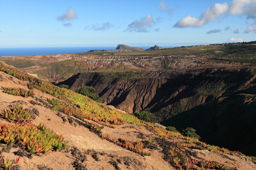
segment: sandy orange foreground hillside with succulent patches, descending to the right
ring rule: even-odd
[[[139,121],[133,116],[91,101],[86,96],[58,88],[5,64],[0,63],[0,70],[0,86],[24,90],[28,90],[28,86],[33,87],[33,95],[28,97],[19,96],[13,91],[11,94],[18,96],[7,94],[1,90],[0,112],[4,112],[8,105],[18,103],[34,115],[33,124],[45,123],[47,128],[65,137],[64,141],[67,143],[65,149],[52,150],[48,154],[31,153],[28,147],[22,146],[18,141],[7,145],[7,138],[3,140],[2,136],[4,128],[7,127],[3,124],[8,122],[1,120],[0,123],[3,125],[0,128],[1,155],[4,159],[16,159],[17,156],[21,156],[18,167],[14,167],[16,169],[176,169],[198,166],[218,167],[217,169],[256,168],[256,165],[249,161],[252,157],[246,157],[242,153],[206,145],[195,138],[183,137],[180,133],[166,131],[154,124]],[[63,106],[60,107],[60,104]],[[85,119],[83,114],[87,107],[92,109],[91,114],[93,112],[95,114]],[[100,117],[103,116],[100,114],[102,109],[105,110],[105,118],[108,114],[115,115],[121,125],[116,124],[115,128],[108,127],[115,122],[109,121],[111,117],[100,121]],[[121,119],[133,120],[133,122],[127,123]],[[102,129],[101,125],[104,122],[106,126]],[[26,126],[26,124],[11,123],[11,126]],[[123,140],[124,138],[134,144]],[[136,141],[139,142],[136,144]],[[130,148],[132,145],[136,147]],[[140,156],[148,152],[151,156]]]

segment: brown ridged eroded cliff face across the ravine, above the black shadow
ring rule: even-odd
[[[122,74],[119,76],[121,78],[110,76],[110,73],[81,73],[62,84],[70,85],[72,90],[84,85],[93,86],[104,104],[128,113],[151,111],[162,122],[230,94],[254,78],[249,70],[212,69],[187,74],[150,71],[129,79],[122,78]]]

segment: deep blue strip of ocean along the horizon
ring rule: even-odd
[[[150,47],[139,47],[149,49]],[[33,47],[33,48],[0,48],[1,56],[43,55],[86,53],[89,50],[115,50],[116,47]]]

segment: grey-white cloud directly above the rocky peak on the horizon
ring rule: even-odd
[[[151,14],[148,14],[145,18],[141,18],[140,20],[134,20],[134,22],[130,23],[125,32],[149,32],[149,28],[154,24],[154,19]]]

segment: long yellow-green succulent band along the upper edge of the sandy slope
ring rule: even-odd
[[[90,119],[97,122],[106,122],[107,124],[121,125],[123,121],[129,123],[135,123],[136,125],[141,125],[142,122],[137,119],[135,116],[127,115],[122,112],[116,111],[107,107],[104,104],[100,104],[94,100],[91,100],[87,96],[77,94],[68,89],[63,89],[48,83],[47,81],[35,78],[31,75],[28,75],[22,71],[19,71],[16,68],[12,68],[6,64],[0,62],[0,70],[4,71],[7,74],[13,75],[21,80],[29,80],[29,87],[47,92],[58,99],[62,99],[72,104],[79,106],[84,116],[84,119]]]

